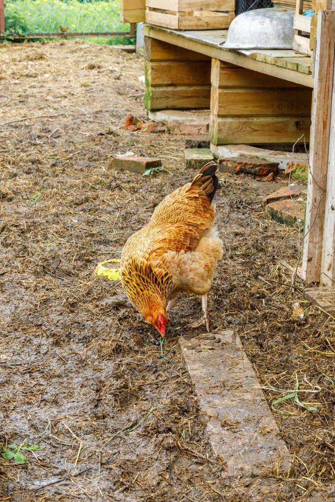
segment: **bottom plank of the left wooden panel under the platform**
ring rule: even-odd
[[[148,110],[209,109],[211,86],[148,87],[144,104]]]

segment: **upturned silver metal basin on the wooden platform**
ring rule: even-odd
[[[292,49],[294,10],[243,12],[228,28],[224,49]]]

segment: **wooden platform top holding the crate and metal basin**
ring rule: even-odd
[[[242,68],[313,87],[311,57],[292,50],[224,49],[221,44],[227,30],[177,31],[148,25],[144,27],[144,35]]]

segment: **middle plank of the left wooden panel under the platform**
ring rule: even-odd
[[[211,61],[148,62],[152,86],[209,86]]]

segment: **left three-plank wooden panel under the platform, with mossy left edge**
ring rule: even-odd
[[[144,38],[147,110],[209,109],[211,58]]]

